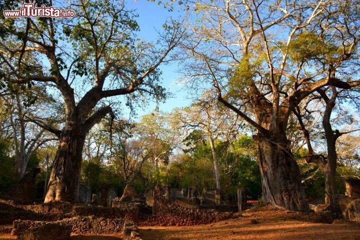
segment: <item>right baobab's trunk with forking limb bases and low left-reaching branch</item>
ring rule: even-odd
[[[260,124],[227,102],[220,94],[218,99],[257,127],[258,134],[254,138],[258,143],[263,200],[289,210],[308,211],[308,204],[301,185],[300,170],[288,147],[285,133],[289,108],[283,107],[274,117],[272,105],[261,97],[257,90],[252,94],[260,96],[253,100],[256,120]]]

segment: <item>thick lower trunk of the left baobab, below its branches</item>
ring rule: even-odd
[[[44,202],[75,202],[86,130],[82,124],[65,125],[51,170]]]

